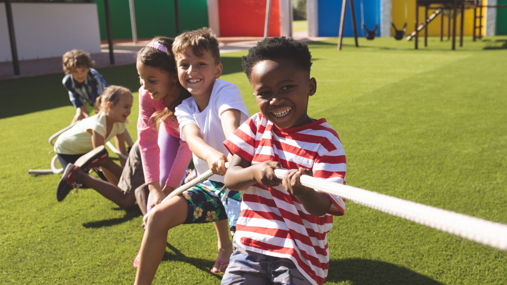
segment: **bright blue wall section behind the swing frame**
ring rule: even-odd
[[[357,25],[357,36],[366,35],[366,30],[361,27],[361,6],[360,1],[354,1],[355,20]],[[376,21],[379,27],[377,35],[380,35],[380,0],[363,0],[363,8],[365,13],[365,24],[373,30]],[[340,14],[342,11],[342,0],[318,0],[318,35],[319,37],[338,37],[340,29]],[[377,14],[377,16],[375,16]],[[363,31],[361,33],[361,30]],[[345,28],[343,29],[344,37],[353,37],[352,17],[350,14],[350,2],[347,3],[347,11],[345,12]]]

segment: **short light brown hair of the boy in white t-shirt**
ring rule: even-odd
[[[172,44],[172,53],[175,58],[178,58],[186,54],[189,48],[192,48],[192,52],[197,56],[202,56],[203,51],[208,51],[215,60],[215,64],[220,63],[219,42],[210,28],[203,27],[178,35]]]

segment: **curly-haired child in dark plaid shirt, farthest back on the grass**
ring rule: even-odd
[[[65,73],[62,84],[68,91],[70,102],[76,108],[72,123],[90,117],[85,102],[93,107],[97,97],[109,86],[102,75],[93,69],[94,63],[90,55],[82,50],[68,51],[62,57]]]

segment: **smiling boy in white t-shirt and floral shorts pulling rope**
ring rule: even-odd
[[[179,82],[192,94],[174,113],[180,137],[193,153],[198,174],[211,169],[215,175],[149,212],[136,284],[153,280],[164,255],[167,231],[180,224],[214,222],[219,253],[211,273],[224,272],[233,252],[229,230],[235,231],[240,212],[242,193],[229,192],[224,185],[228,152],[223,141],[248,118],[241,93],[236,85],[218,80],[223,69],[220,50],[208,28],[178,35],[172,52]]]

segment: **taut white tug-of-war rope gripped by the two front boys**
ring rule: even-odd
[[[275,175],[278,179],[282,179],[283,174],[285,174],[286,171],[287,170],[275,169]],[[174,190],[162,202],[183,193],[198,183],[206,180],[211,175],[213,175],[213,173],[211,173],[210,170],[206,171],[191,182]],[[423,226],[441,230],[484,245],[489,245],[502,251],[507,251],[507,225],[391,197],[357,187],[321,180],[308,175],[302,175],[300,181],[302,185],[320,192],[342,197],[354,203],[367,206]],[[144,216],[144,222],[146,222],[147,219],[148,215]]]

